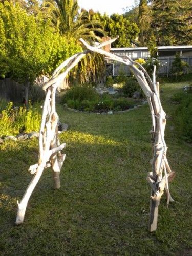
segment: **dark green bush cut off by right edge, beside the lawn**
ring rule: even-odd
[[[188,142],[192,142],[192,94],[179,92],[172,96],[172,101],[178,103],[172,113],[178,135]]]

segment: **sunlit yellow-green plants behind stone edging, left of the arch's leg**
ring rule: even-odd
[[[9,102],[1,111],[0,117],[0,137],[16,135],[19,132],[39,131],[41,114],[35,106],[30,105],[29,109],[13,109],[13,103]]]

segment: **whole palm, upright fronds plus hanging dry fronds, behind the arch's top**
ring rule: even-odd
[[[92,20],[91,15],[86,10],[81,10],[77,0],[48,0],[43,4],[44,11],[51,17],[53,26],[70,39],[83,38],[91,41],[101,41],[98,35],[105,35],[104,26],[100,20]],[[103,56],[95,53],[89,53],[81,60],[78,65],[78,71],[75,69],[76,79],[79,82],[90,82],[98,80],[104,70]],[[73,73],[73,75],[74,75]]]

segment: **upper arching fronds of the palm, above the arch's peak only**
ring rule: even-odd
[[[102,23],[99,20],[91,20],[89,12],[78,12],[77,0],[48,0],[44,2],[44,9],[52,19],[62,35],[67,39],[91,39],[100,40],[97,32],[105,35]]]

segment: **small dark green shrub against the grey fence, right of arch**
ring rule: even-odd
[[[185,72],[185,69],[188,67],[188,63],[181,60],[180,54],[177,53],[174,61],[172,62],[171,74],[177,80],[178,75],[182,75]]]

